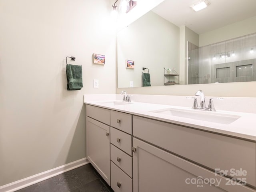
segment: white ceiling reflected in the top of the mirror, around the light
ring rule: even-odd
[[[256,16],[256,0],[208,0],[208,7],[195,12],[190,5],[198,1],[165,0],[152,11],[198,34]]]

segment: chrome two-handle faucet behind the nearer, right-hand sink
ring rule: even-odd
[[[220,99],[220,100],[223,99],[223,98],[219,98],[219,97],[210,98],[210,99],[209,99],[208,107],[206,107],[206,105],[205,105],[204,92],[203,92],[202,90],[198,90],[198,91],[195,93],[195,96],[200,96],[200,98],[201,98],[201,100],[200,100],[200,106],[199,106],[199,107],[198,107],[198,104],[197,104],[197,98],[196,98],[196,97],[187,97],[188,99],[194,99],[194,103],[193,103],[192,109],[207,110],[207,111],[216,111],[216,109],[214,108],[213,100],[214,100],[214,99]]]

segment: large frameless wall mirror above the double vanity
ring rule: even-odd
[[[256,1],[209,1],[195,12],[165,0],[120,30],[118,88],[141,87],[142,73],[151,86],[256,81]]]

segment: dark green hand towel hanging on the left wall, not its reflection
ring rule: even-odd
[[[67,64],[67,90],[80,90],[83,87],[82,66]]]

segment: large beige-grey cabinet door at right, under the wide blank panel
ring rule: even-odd
[[[133,192],[256,191],[136,138],[133,146]]]

